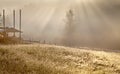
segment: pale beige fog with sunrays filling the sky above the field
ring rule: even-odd
[[[9,26],[12,26],[12,10],[16,9],[18,14],[22,9],[24,39],[120,48],[119,0],[0,0],[1,12],[2,9],[6,9]],[[72,28],[67,28],[66,14],[70,9],[75,21]]]

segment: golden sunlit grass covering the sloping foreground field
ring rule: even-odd
[[[120,53],[38,44],[0,46],[0,74],[120,74]]]

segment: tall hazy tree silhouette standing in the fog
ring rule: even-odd
[[[69,10],[66,13],[66,28],[65,28],[65,40],[64,44],[72,46],[74,42],[74,34],[75,34],[75,20],[74,20],[74,12],[73,10]]]

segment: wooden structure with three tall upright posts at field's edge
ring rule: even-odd
[[[6,21],[5,21],[5,10],[3,10],[2,15],[0,16],[2,18],[2,22],[0,23],[2,26],[0,26],[0,39],[5,38],[15,38],[16,33],[19,33],[19,39],[21,39],[21,10],[19,11],[19,30],[15,28],[15,10],[13,10],[13,27],[7,27]],[[13,36],[9,36],[9,34],[13,34]],[[17,38],[17,37],[16,37]]]

